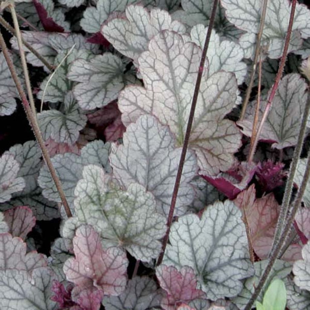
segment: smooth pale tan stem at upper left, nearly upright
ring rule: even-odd
[[[30,84],[30,78],[29,78],[29,72],[28,72],[26,57],[25,57],[25,53],[24,53],[21,33],[20,33],[19,25],[18,25],[18,20],[17,20],[14,5],[10,4],[9,7],[10,7],[11,15],[13,18],[13,24],[14,24],[14,28],[15,28],[15,32],[16,32],[18,48],[20,51],[20,59],[21,59],[21,64],[22,64],[23,71],[24,71],[24,78],[25,78],[25,82],[26,82],[28,98],[29,98],[29,102],[30,102],[30,106],[32,109],[34,120],[35,120],[35,122],[37,122],[37,112],[36,112],[36,107],[34,105],[32,89],[31,89],[31,84]]]

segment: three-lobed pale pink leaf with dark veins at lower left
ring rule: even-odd
[[[123,250],[103,250],[99,234],[82,225],[73,238],[75,258],[64,263],[67,279],[81,288],[96,287],[106,295],[119,295],[126,286],[128,260]]]

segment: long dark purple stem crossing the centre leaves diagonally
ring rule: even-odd
[[[198,70],[198,74],[197,74],[197,79],[196,79],[196,83],[195,83],[195,89],[194,89],[194,93],[193,93],[191,109],[190,109],[190,112],[189,112],[188,123],[187,123],[185,137],[184,137],[184,144],[183,144],[182,152],[181,152],[181,156],[180,156],[178,172],[177,172],[177,175],[176,175],[176,178],[175,178],[175,185],[174,185],[174,188],[173,188],[173,193],[172,193],[172,198],[171,198],[171,205],[170,205],[170,210],[169,210],[168,219],[167,219],[167,230],[166,230],[166,234],[165,234],[165,236],[163,238],[163,241],[162,241],[162,251],[161,251],[161,253],[160,253],[159,257],[158,257],[157,266],[162,263],[162,259],[164,257],[166,246],[167,246],[167,242],[168,242],[168,239],[169,239],[170,226],[172,224],[173,214],[174,214],[174,210],[175,210],[175,203],[176,203],[176,199],[177,199],[177,195],[178,195],[179,185],[180,185],[180,182],[181,182],[182,170],[183,170],[185,156],[186,156],[186,151],[187,151],[187,147],[188,147],[188,143],[189,143],[189,136],[190,136],[192,125],[193,125],[195,108],[196,108],[196,104],[197,104],[199,88],[200,88],[200,83],[201,83],[201,79],[202,79],[202,73],[203,73],[203,69],[204,69],[204,65],[205,65],[207,50],[208,50],[208,47],[209,47],[211,31],[212,31],[213,24],[214,24],[215,13],[216,13],[218,2],[219,2],[219,0],[214,0],[213,1],[213,7],[212,7],[211,16],[210,16],[210,23],[209,23],[208,31],[207,31],[207,34],[206,34],[205,44],[203,46],[202,53],[201,53],[201,60],[200,60],[200,64],[199,64],[199,70]]]

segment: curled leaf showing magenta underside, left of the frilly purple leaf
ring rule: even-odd
[[[220,173],[216,177],[208,175],[201,176],[229,199],[235,199],[249,184],[255,171],[256,166],[246,162],[241,162],[234,165],[225,173]]]

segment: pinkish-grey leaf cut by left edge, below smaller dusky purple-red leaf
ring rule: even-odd
[[[0,270],[25,270],[47,266],[45,255],[32,251],[26,254],[27,244],[9,233],[0,234]]]

